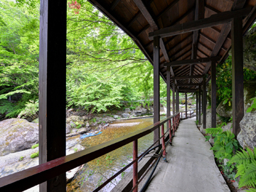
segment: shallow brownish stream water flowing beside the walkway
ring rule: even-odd
[[[165,118],[165,117],[162,117]],[[161,118],[161,119],[162,119]],[[82,146],[85,149],[90,146],[102,144],[104,142],[122,137],[131,132],[135,132],[139,129],[144,129],[153,124],[153,118],[145,119],[129,119],[124,121],[117,121],[110,124],[110,127],[102,131],[95,137],[88,137],[82,140]],[[166,126],[165,126],[166,127]],[[142,154],[149,146],[153,144],[153,133],[147,134],[138,140],[138,154]],[[132,143],[116,149],[109,154],[100,156],[99,158],[88,162],[78,173],[73,181],[68,183],[67,191],[93,191],[100,183],[103,183],[114,173],[122,169],[124,166],[132,161]],[[126,170],[131,171],[132,166]],[[101,191],[111,191],[111,189],[121,180],[125,173],[119,175],[116,180],[109,183]]]

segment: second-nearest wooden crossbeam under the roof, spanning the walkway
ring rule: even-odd
[[[176,60],[171,63],[164,63],[164,66],[179,66],[179,65],[191,65],[197,63],[208,63],[212,60],[220,60],[220,56],[212,57],[212,58],[198,58],[198,59],[191,59],[191,60]]]

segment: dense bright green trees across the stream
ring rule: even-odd
[[[89,2],[78,4],[79,12],[68,6],[67,107],[101,112],[152,97],[153,67],[142,51]],[[0,113],[7,117],[38,110],[39,6],[0,2]]]

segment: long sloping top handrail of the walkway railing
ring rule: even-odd
[[[109,142],[92,146],[88,149],[78,151],[75,154],[62,156],[58,159],[48,161],[45,164],[40,164],[9,176],[4,176],[3,178],[0,178],[0,189],[3,191],[24,191],[144,137],[146,134],[154,132],[155,129],[159,128],[174,117],[179,118],[179,112],[156,122],[149,127],[132,132],[117,139],[113,139]]]

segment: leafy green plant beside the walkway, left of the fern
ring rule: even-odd
[[[223,124],[222,124],[223,125]],[[220,127],[222,127],[222,125]],[[208,128],[206,129],[207,134],[211,134],[214,137],[213,150],[214,156],[222,161],[223,159],[231,159],[233,156],[233,150],[238,149],[238,141],[235,140],[235,134],[230,130],[223,132],[223,129]],[[210,139],[210,136],[206,136],[206,141]]]

